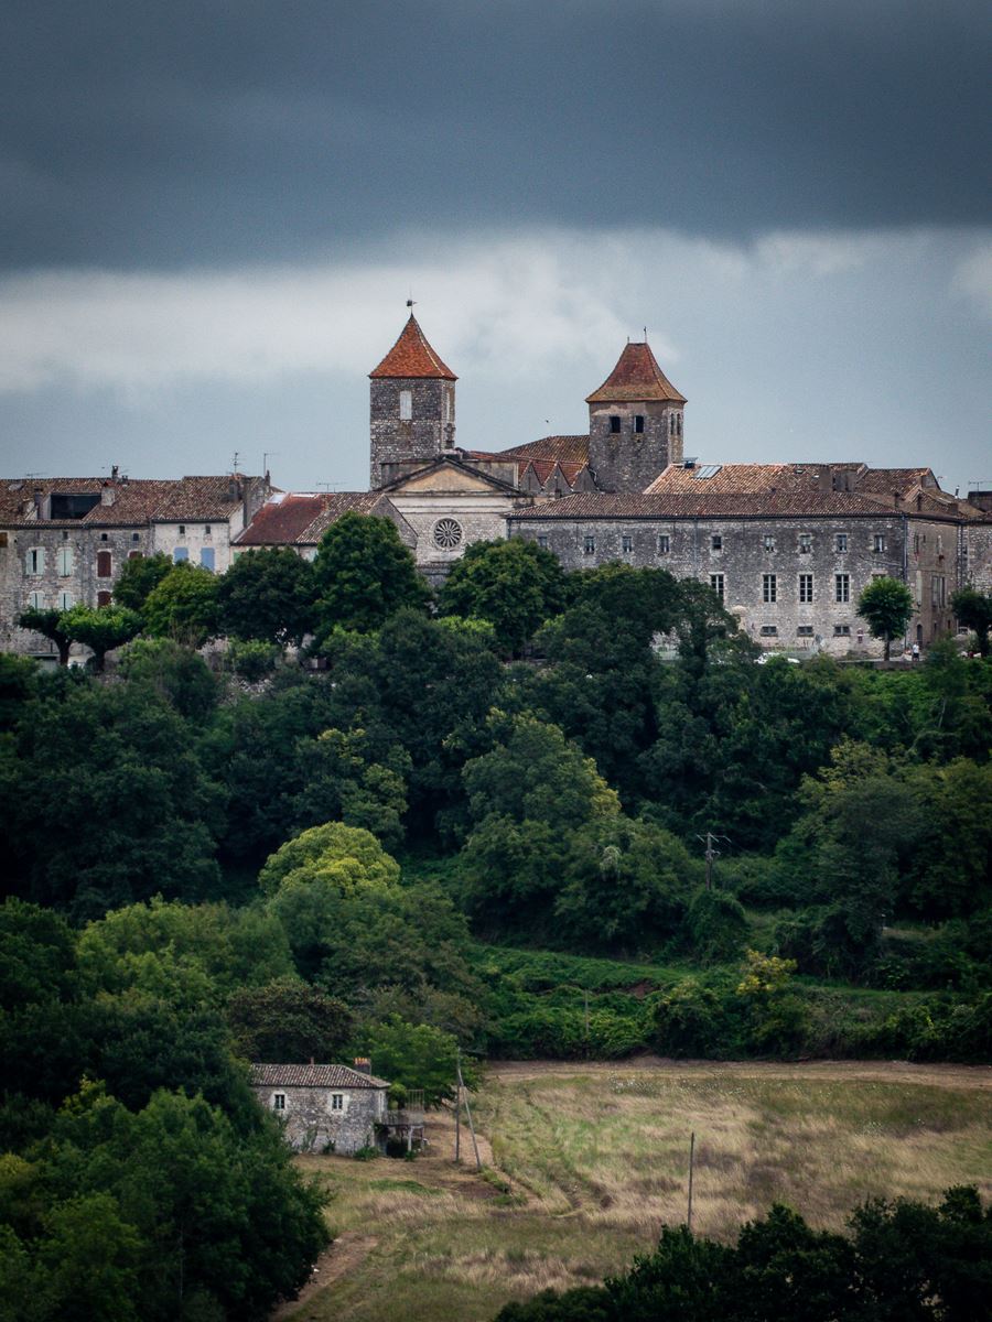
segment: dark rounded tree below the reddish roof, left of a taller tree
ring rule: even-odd
[[[315,591],[313,566],[288,546],[245,553],[220,580],[221,628],[242,640],[300,642]]]

